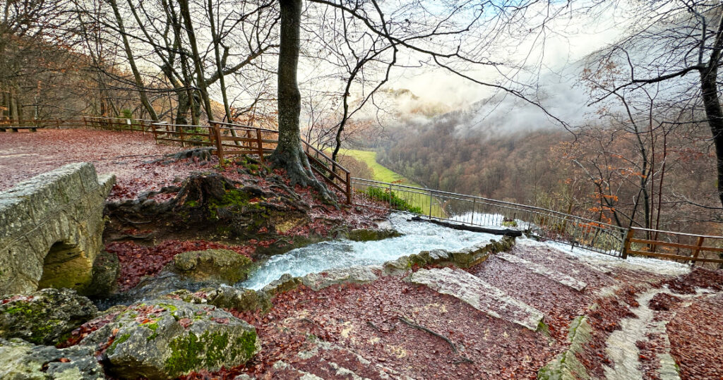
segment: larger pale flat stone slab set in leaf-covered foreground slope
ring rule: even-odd
[[[526,303],[515,300],[489,283],[462,269],[419,269],[408,277],[419,285],[426,285],[442,294],[451,295],[469,303],[479,311],[495,318],[519,324],[536,331],[544,317]]]

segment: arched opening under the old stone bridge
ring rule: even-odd
[[[38,281],[38,289],[85,290],[92,280],[91,267],[80,247],[58,241],[50,247],[43,260],[43,275]]]

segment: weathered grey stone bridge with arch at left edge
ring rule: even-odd
[[[103,204],[115,176],[72,163],[0,191],[0,295],[38,288],[93,293]]]

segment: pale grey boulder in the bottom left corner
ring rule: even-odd
[[[95,380],[106,379],[93,347],[59,349],[33,345],[20,339],[0,339],[0,379]]]

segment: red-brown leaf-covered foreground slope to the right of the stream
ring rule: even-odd
[[[378,365],[392,368],[398,376],[415,379],[535,379],[539,368],[568,347],[570,321],[580,315],[588,316],[594,331],[578,358],[592,376],[604,378],[604,368],[615,366],[607,356],[606,340],[620,329],[622,319],[634,316],[632,311],[639,306],[636,296],[641,291],[667,284],[715,291],[723,285],[723,277],[712,271],[699,269],[674,277],[615,266],[596,267],[544,245],[515,246],[511,254],[538,264],[555,264],[560,272],[588,284],[578,292],[494,255],[468,269],[513,298],[543,311],[549,334],[494,318],[457,298],[411,285],[403,276],[382,276],[364,285],[333,285],[318,292],[301,286],[277,295],[273,300],[275,308],[268,314],[232,311],[254,324],[262,340],[261,353],[247,366],[196,373],[188,379],[233,379],[239,373],[259,379],[298,379],[296,370],[323,379],[347,379],[324,368],[329,362],[346,363],[345,368],[360,374],[364,369],[347,358],[357,354],[372,363],[365,367],[367,370]],[[716,347],[722,342],[720,297],[690,306],[668,326],[672,354],[681,360],[683,379],[720,379],[723,375],[716,356]],[[662,310],[675,298],[661,296],[651,302]],[[449,342],[411,327],[402,318]],[[311,336],[337,348],[307,358],[316,345],[309,339]],[[646,379],[659,378],[654,360],[646,361],[655,357],[658,341],[648,337],[638,343],[640,368]],[[279,360],[294,371],[275,367]],[[364,376],[380,378],[378,373]]]

